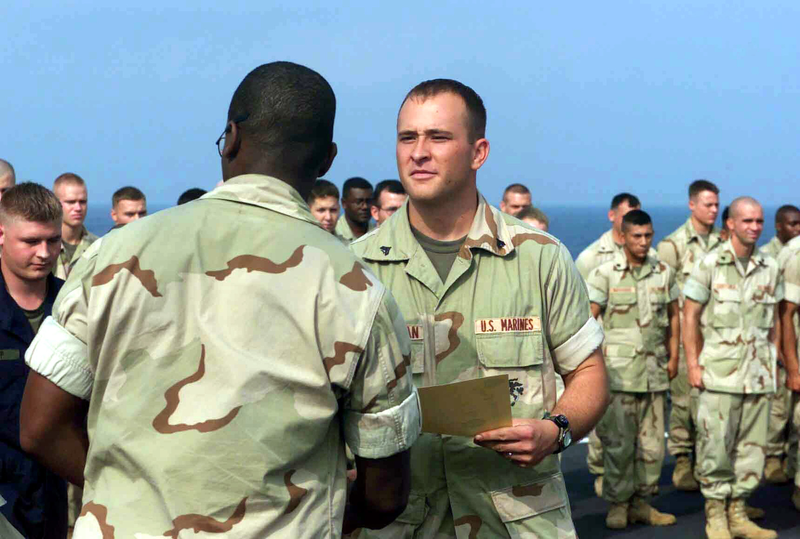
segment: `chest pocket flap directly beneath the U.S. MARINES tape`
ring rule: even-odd
[[[544,361],[542,333],[477,335],[478,359],[490,368],[527,367]]]

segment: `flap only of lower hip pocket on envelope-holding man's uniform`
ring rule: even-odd
[[[492,492],[494,509],[504,523],[534,517],[567,504],[566,485],[561,473],[533,483]]]

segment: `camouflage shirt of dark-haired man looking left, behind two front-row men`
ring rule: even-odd
[[[683,285],[686,284],[686,279],[692,272],[694,264],[720,245],[722,245],[722,238],[719,237],[717,227],[712,228],[708,238],[703,240],[697,230],[694,230],[691,218],[686,219],[686,222],[678,227],[678,230],[658,242],[656,247],[658,259],[666,262],[675,270],[681,309],[683,308]]]

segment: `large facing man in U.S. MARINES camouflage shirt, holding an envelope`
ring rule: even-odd
[[[350,247],[398,300],[414,383],[507,374],[514,425],[474,438],[422,433],[406,511],[359,539],[575,537],[553,453],[606,408],[602,329],[566,247],[478,193],[485,131],[468,86],[436,79],[410,90],[396,150],[409,199]]]

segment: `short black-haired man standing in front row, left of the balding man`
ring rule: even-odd
[[[611,502],[606,526],[614,529],[629,521],[675,523],[647,498],[658,493],[666,389],[678,370],[678,288],[670,266],[647,256],[653,243],[648,214],[626,214],[622,236],[624,254],[592,270],[586,280],[592,313],[603,314],[606,334],[611,404],[597,433],[606,472],[602,496]]]

